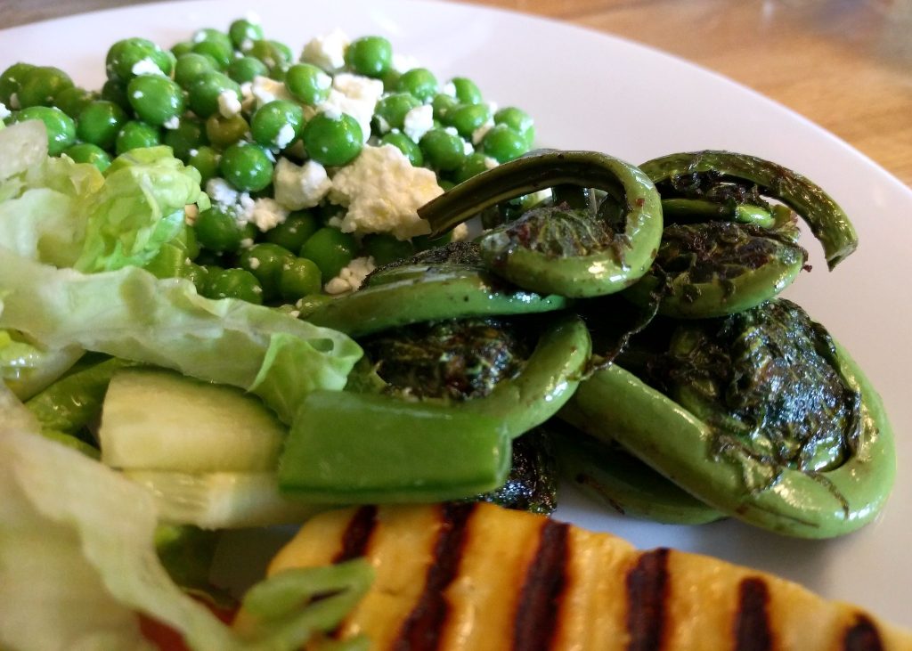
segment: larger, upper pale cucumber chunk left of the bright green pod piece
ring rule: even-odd
[[[275,470],[285,434],[241,389],[135,368],[111,379],[98,439],[114,468],[256,472]]]

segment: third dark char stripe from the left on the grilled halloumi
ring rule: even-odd
[[[544,522],[513,619],[516,651],[545,651],[551,646],[566,585],[569,532],[570,527],[564,522]]]

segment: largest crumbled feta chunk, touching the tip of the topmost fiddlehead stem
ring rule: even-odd
[[[348,209],[340,223],[343,232],[392,233],[406,240],[430,233],[418,209],[442,193],[433,171],[412,167],[392,145],[368,145],[336,172],[329,201]]]

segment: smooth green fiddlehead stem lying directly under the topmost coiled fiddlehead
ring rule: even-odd
[[[405,271],[399,272],[406,274]],[[370,285],[314,305],[301,318],[346,333],[371,333],[422,321],[465,316],[551,312],[567,305],[564,296],[535,294],[472,269],[415,274]]]

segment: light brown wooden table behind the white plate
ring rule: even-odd
[[[912,0],[468,1],[687,58],[814,120],[912,186]],[[127,4],[0,0],[0,26]]]

